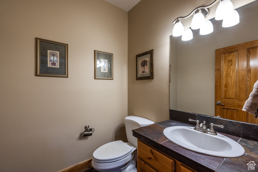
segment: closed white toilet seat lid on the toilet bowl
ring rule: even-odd
[[[93,152],[93,160],[99,163],[114,162],[130,156],[133,147],[123,141],[114,141],[100,146]]]

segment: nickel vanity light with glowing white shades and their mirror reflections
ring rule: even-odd
[[[172,35],[173,36],[182,35],[182,40],[190,40],[192,39],[191,36],[187,37],[186,35],[187,35],[187,32],[188,34],[190,34],[191,29],[200,29],[200,35],[207,35],[213,32],[213,24],[209,20],[205,21],[205,18],[207,18],[210,13],[209,7],[212,7],[214,4],[216,4],[219,1],[220,1],[220,4],[218,5],[215,12],[215,20],[223,20],[222,27],[231,27],[238,24],[239,14],[237,13],[236,10],[234,10],[232,2],[230,0],[215,0],[209,5],[197,7],[187,16],[176,18],[173,21],[173,23],[175,23],[175,26],[173,28]],[[193,15],[192,22],[191,22],[191,29],[183,30],[184,27],[180,19],[189,18],[191,15]]]

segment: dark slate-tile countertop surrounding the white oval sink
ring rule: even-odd
[[[171,126],[194,127],[182,122],[166,120],[134,129],[133,136],[198,172],[250,171],[247,166],[250,161],[254,161],[257,164],[257,167],[251,171],[258,171],[258,142],[220,133],[242,145],[245,149],[245,155],[239,158],[212,157],[184,149],[167,140],[163,135],[163,130]]]

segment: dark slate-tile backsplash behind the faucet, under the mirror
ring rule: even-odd
[[[206,122],[208,128],[211,127],[210,123],[216,125],[223,125],[224,128],[214,126],[217,132],[230,134],[233,136],[245,138],[258,142],[258,125],[249,124],[245,122],[233,121],[229,119],[216,118],[213,116],[207,116],[197,113],[183,112],[170,109],[169,119],[183,122],[190,125],[195,125],[194,121],[188,119],[199,120],[199,123]]]

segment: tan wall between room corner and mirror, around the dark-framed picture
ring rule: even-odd
[[[239,7],[253,0],[232,0]],[[213,0],[141,0],[128,12],[128,115],[137,115],[155,122],[169,119],[170,92],[177,89],[177,74],[169,84],[169,37],[176,17],[188,15],[194,8]],[[189,27],[189,20],[182,22]],[[154,49],[154,79],[135,80],[135,55]],[[174,61],[176,62],[176,61]],[[178,98],[178,97],[177,97]],[[171,98],[176,101],[176,97]]]

